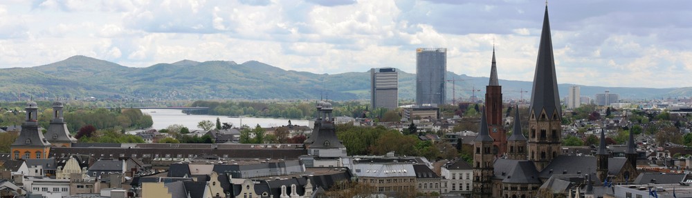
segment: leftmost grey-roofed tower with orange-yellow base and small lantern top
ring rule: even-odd
[[[29,101],[24,110],[26,121],[21,124],[19,137],[10,146],[12,159],[46,159],[51,150],[51,143],[48,143],[43,132],[39,130],[38,105],[34,101]]]

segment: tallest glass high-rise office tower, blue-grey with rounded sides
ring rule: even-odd
[[[416,104],[444,104],[447,48],[416,50]]]

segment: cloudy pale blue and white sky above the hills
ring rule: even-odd
[[[692,86],[692,1],[548,3],[558,83]],[[488,77],[494,43],[500,79],[532,81],[544,12],[540,0],[0,0],[0,68],[84,55],[415,72],[416,48],[447,48],[447,70]]]

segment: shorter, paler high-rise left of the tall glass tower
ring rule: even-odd
[[[399,106],[399,75],[396,68],[370,69],[370,103],[372,109],[394,109]]]

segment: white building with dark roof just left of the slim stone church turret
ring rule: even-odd
[[[446,164],[440,169],[443,194],[470,195],[473,188],[473,168],[464,160]]]

